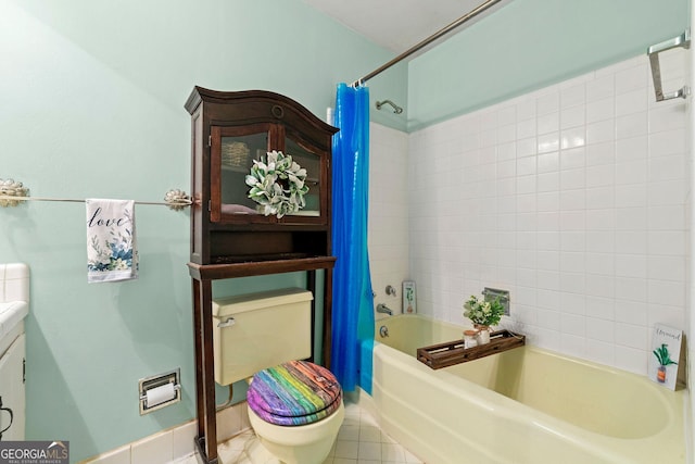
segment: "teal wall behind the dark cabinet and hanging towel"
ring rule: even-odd
[[[391,58],[299,0],[0,0],[0,178],[34,197],[160,201],[190,191],[194,85],[273,90],[324,118],[337,83]],[[0,211],[0,262],[31,272],[27,438],[70,440],[73,461],[194,415],[189,216],[136,217],[139,279],[88,285],[84,204]],[[215,289],[292,285],[304,275]],[[138,379],[178,366],[182,402],[140,416]]]

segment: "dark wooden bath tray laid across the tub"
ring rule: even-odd
[[[464,340],[447,341],[417,349],[417,359],[427,366],[439,369],[468,361],[485,358],[526,344],[526,336],[509,330],[490,334],[490,343],[479,347],[464,348]]]

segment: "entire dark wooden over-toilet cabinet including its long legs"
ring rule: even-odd
[[[186,102],[191,114],[191,254],[198,435],[206,464],[217,457],[212,281],[235,277],[307,272],[308,290],[324,286],[323,361],[330,362],[332,268],[332,135],[298,102],[278,93],[220,92],[195,87]],[[258,212],[248,198],[245,176],[269,151],[292,156],[307,172],[306,204],[277,217]],[[317,271],[323,269],[323,279]],[[315,300],[314,300],[315,303]],[[312,306],[312,327],[316,308]],[[312,347],[314,346],[312,336]],[[314,359],[312,353],[312,359]]]

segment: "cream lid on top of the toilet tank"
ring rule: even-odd
[[[213,317],[226,317],[247,311],[255,311],[281,304],[302,303],[312,301],[313,299],[314,296],[312,292],[303,288],[283,288],[217,298],[213,300]]]

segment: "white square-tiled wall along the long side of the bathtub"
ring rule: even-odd
[[[665,90],[685,61],[662,57]],[[508,289],[531,343],[646,373],[653,325],[687,328],[688,111],[639,57],[410,134],[418,312],[460,324]]]

